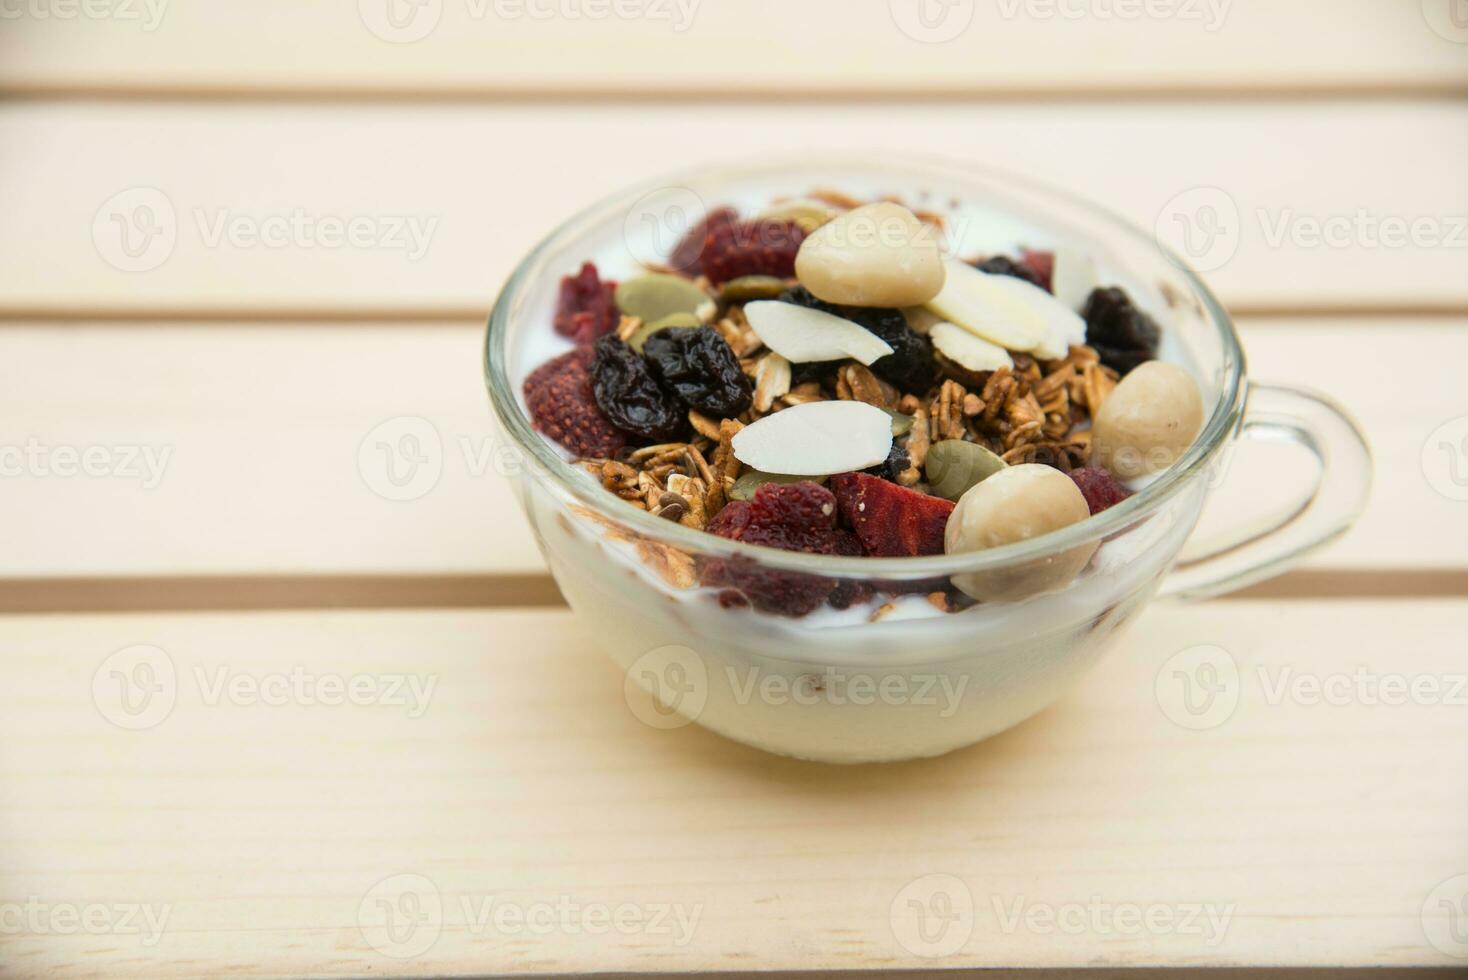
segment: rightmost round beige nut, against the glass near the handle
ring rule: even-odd
[[[1123,480],[1177,462],[1202,428],[1202,393],[1166,361],[1135,367],[1101,403],[1091,425],[1091,459]]]

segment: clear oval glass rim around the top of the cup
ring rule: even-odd
[[[640,197],[665,188],[677,188],[687,182],[709,179],[738,179],[753,176],[772,176],[790,169],[812,169],[829,166],[832,170],[868,170],[872,173],[922,175],[931,173],[944,178],[973,179],[981,178],[995,183],[1009,183],[1031,194],[1050,198],[1089,213],[1101,219],[1113,230],[1117,230],[1133,241],[1142,242],[1151,251],[1171,263],[1186,279],[1193,295],[1202,305],[1204,318],[1214,327],[1223,345],[1224,359],[1229,370],[1223,379],[1217,403],[1208,420],[1204,423],[1198,439],[1182,455],[1182,458],[1163,471],[1147,487],[1122,503],[1088,516],[1076,524],[1066,525],[1048,534],[1033,537],[1013,544],[1003,544],[978,552],[962,552],[957,555],[926,555],[919,557],[840,557],[831,555],[807,555],[804,552],[785,552],[762,544],[746,544],[724,538],[708,531],[674,524],[655,516],[617,494],[608,493],[605,487],[590,480],[584,469],[574,467],[564,459],[559,450],[540,433],[534,431],[530,418],[520,406],[515,387],[509,380],[505,361],[506,340],[509,334],[511,308],[514,301],[526,289],[531,267],[550,248],[564,244],[571,232],[592,219],[637,201]],[[546,324],[549,329],[549,324]],[[876,163],[851,163],[850,160],[824,160],[818,156],[802,156],[799,158],[753,161],[735,161],[708,167],[684,169],[659,178],[640,182],[600,198],[595,204],[577,211],[562,222],[530,252],[520,260],[514,271],[505,280],[495,305],[489,314],[489,326],[484,333],[483,352],[484,381],[490,403],[499,417],[501,425],[515,442],[523,459],[534,461],[536,468],[550,475],[556,486],[581,505],[615,521],[639,535],[661,541],[684,552],[699,555],[716,555],[721,557],[747,557],[762,566],[806,572],[813,575],[829,575],[841,578],[882,578],[882,579],[915,579],[960,575],[1000,569],[1023,562],[1044,559],[1051,555],[1067,552],[1089,541],[1101,540],[1144,519],[1163,503],[1180,493],[1199,474],[1213,456],[1224,446],[1229,434],[1238,423],[1243,392],[1245,392],[1245,356],[1239,343],[1233,320],[1223,304],[1213,295],[1213,290],[1202,279],[1171,249],[1163,246],[1155,236],[1133,224],[1130,220],[1104,208],[1092,201],[1072,194],[1063,188],[1055,188],[1041,180],[1013,175],[995,167],[970,164],[959,160],[944,160],[909,154],[885,154]]]

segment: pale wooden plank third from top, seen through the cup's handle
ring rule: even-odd
[[[1430,434],[1468,411],[1455,380],[1468,356],[1465,326],[1245,324],[1255,377],[1333,395],[1374,443],[1371,508],[1311,569],[1468,571],[1468,505],[1434,489],[1422,468]],[[223,581],[194,593],[159,584],[153,601],[549,601],[534,584],[545,574],[539,550],[501,475],[512,471],[482,395],[480,340],[474,324],[9,324],[0,330],[0,445],[34,440],[41,455],[35,464],[7,456],[23,472],[0,480],[0,509],[26,515],[0,549],[6,594],[22,609],[50,607],[46,584],[65,579],[82,596],[66,601],[97,607],[110,578],[206,577]],[[1384,356],[1411,364],[1411,396],[1381,383]],[[440,475],[390,499],[404,494],[385,484],[389,456],[371,445],[360,452],[374,433],[395,446],[407,430],[392,420],[404,418],[432,425]],[[51,474],[57,447],[81,456],[92,446],[107,450],[113,475]],[[1446,486],[1450,462],[1439,462],[1433,478]],[[119,474],[123,467],[135,475]],[[1287,446],[1239,452],[1233,467],[1236,483],[1218,491],[1205,530],[1267,509],[1289,480],[1312,472]],[[289,584],[260,591],[258,581],[239,581],[261,577]],[[307,578],[323,581],[301,591]],[[22,581],[35,588],[16,591]],[[119,596],[147,607],[145,593]]]

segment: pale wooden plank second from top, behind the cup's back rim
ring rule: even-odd
[[[1023,172],[1145,229],[1192,214],[1223,236],[1208,279],[1236,311],[1468,308],[1459,103],[13,103],[0,147],[9,317],[477,318],[603,194],[684,164],[857,148]],[[1198,188],[1216,191],[1179,197]],[[1384,246],[1389,220],[1421,222],[1418,244]]]

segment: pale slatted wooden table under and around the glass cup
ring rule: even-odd
[[[1447,3],[959,3],[947,43],[903,0],[708,0],[684,29],[486,3],[0,21],[0,976],[1468,965]],[[832,147],[1145,227],[1221,192],[1208,277],[1251,373],[1351,406],[1368,513],[1242,597],[1154,607],[944,758],[639,723],[495,472],[484,312],[603,192]],[[1362,230],[1393,222],[1415,238]],[[442,469],[392,500],[360,449],[405,417]],[[1216,512],[1299,465],[1243,464]],[[1202,729],[1158,694],[1199,646],[1239,672]]]

